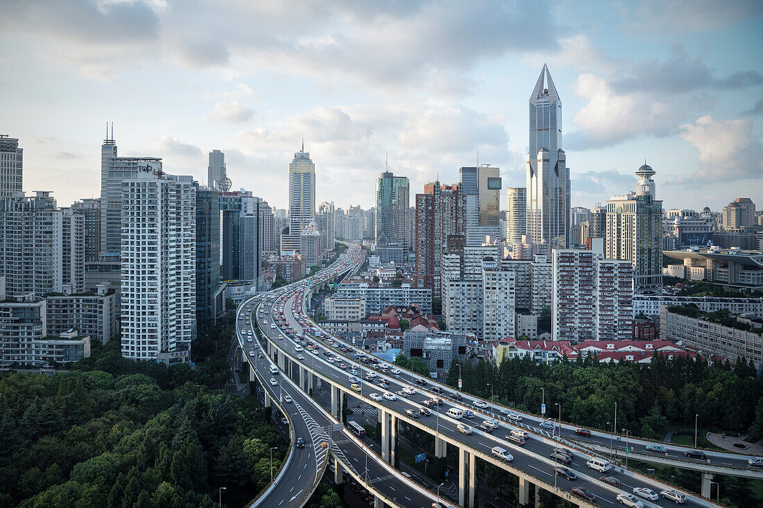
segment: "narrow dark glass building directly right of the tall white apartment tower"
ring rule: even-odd
[[[211,154],[210,154],[211,157]],[[194,182],[196,194],[196,322],[208,330],[222,310],[220,291],[220,192]]]

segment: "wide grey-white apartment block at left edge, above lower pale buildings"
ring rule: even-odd
[[[75,293],[85,288],[84,220],[61,211],[50,191],[0,199],[0,276],[5,294]]]

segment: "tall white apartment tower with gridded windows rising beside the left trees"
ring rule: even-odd
[[[157,168],[121,188],[122,356],[186,362],[196,336],[193,178]]]

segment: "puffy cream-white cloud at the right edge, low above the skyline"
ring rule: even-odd
[[[763,145],[752,133],[752,120],[716,120],[705,115],[681,126],[681,138],[700,155],[699,171],[681,183],[732,182],[763,178]]]

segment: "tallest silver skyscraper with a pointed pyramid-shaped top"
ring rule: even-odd
[[[544,86],[545,82],[545,86]],[[562,101],[546,64],[530,95],[527,233],[554,249],[569,246],[570,180],[562,150]]]

